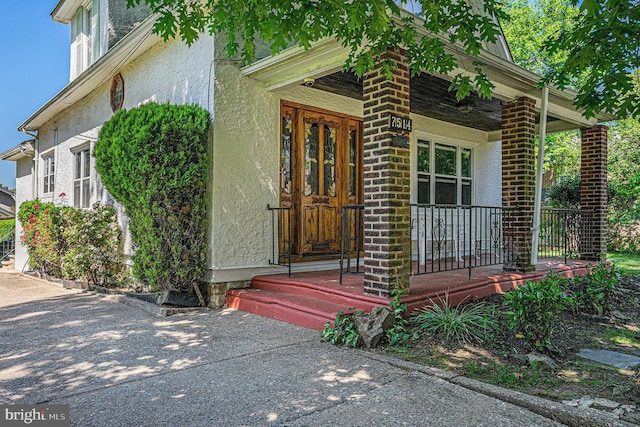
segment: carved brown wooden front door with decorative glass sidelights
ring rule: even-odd
[[[292,210],[297,255],[340,251],[341,211],[362,201],[362,121],[282,106],[281,206]]]

